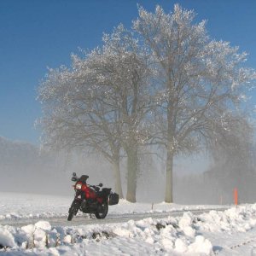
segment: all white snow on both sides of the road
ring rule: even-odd
[[[8,211],[19,218],[32,217],[39,210],[48,214],[65,214],[72,198],[20,195],[1,202],[0,214],[8,218]],[[41,198],[40,202],[36,199]],[[47,198],[47,200],[46,200]],[[67,200],[67,201],[66,201]],[[17,200],[18,202],[19,200]],[[34,204],[33,204],[34,202]],[[55,202],[54,206],[51,203]],[[13,205],[9,205],[12,203]],[[44,205],[46,203],[46,205]],[[37,208],[38,207],[38,208]],[[41,208],[40,208],[41,207]],[[49,208],[48,208],[49,207]],[[59,207],[59,208],[58,208]],[[61,208],[62,207],[62,208]],[[171,211],[185,206],[157,204],[154,211]],[[195,207],[195,206],[194,206]],[[207,207],[201,206],[200,208]],[[159,208],[159,209],[158,209]],[[8,210],[9,209],[9,210]],[[111,209],[111,208],[110,208]],[[122,201],[113,212],[150,212],[149,204],[130,204]],[[3,212],[2,212],[3,211]],[[22,212],[23,211],[23,212]],[[54,213],[55,212],[55,213]],[[13,215],[9,215],[12,217]],[[51,215],[50,215],[51,216]],[[22,227],[0,225],[1,255],[256,255],[256,204],[211,211],[201,215],[184,212],[182,217],[145,218],[124,224],[90,224],[80,226],[52,226],[49,221]]]

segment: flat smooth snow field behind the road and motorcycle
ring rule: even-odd
[[[66,217],[73,196],[32,195],[0,192],[1,219],[18,218],[52,218]],[[153,207],[153,210],[152,210]],[[223,206],[183,206],[177,204],[130,203],[120,200],[116,206],[109,207],[108,215],[143,213],[143,212],[175,212],[183,210],[200,210],[221,208]]]

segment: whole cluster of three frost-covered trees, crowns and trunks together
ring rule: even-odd
[[[227,144],[239,137],[239,124],[250,128],[240,108],[256,77],[242,65],[247,54],[212,40],[206,22],[194,19],[178,5],[169,14],[139,8],[130,31],[119,25],[102,47],[72,55],[70,68],[49,69],[38,90],[45,145],[102,154],[121,197],[125,156],[128,201],[136,201],[139,154],[150,144],[164,147],[165,200],[172,202],[175,155]]]

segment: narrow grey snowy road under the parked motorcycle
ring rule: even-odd
[[[195,215],[203,212],[210,212],[211,210],[224,211],[228,207],[212,208],[205,210],[183,210],[175,212],[153,212],[153,213],[130,213],[130,214],[109,214],[107,218],[96,219],[84,216],[76,216],[72,221],[67,221],[67,217],[59,218],[20,218],[20,219],[3,219],[0,220],[0,225],[11,225],[21,227],[27,224],[35,224],[39,220],[49,221],[52,226],[79,226],[84,224],[110,224],[110,223],[125,223],[129,220],[140,220],[143,218],[167,218],[168,216],[178,217],[183,216],[184,212],[192,212]]]

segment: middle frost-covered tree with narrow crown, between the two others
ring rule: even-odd
[[[119,26],[112,35],[105,35],[106,49],[113,54],[114,68],[106,76],[113,87],[118,102],[121,145],[127,157],[128,201],[136,201],[139,149],[148,142],[152,125],[152,91],[149,87],[151,73],[148,55],[138,45],[131,32]]]

